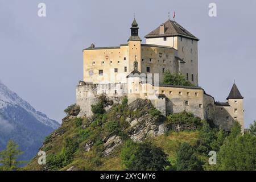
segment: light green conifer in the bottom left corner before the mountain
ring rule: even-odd
[[[18,144],[13,140],[9,140],[6,149],[0,152],[0,164],[2,164],[1,169],[5,171],[16,170],[18,169],[18,164],[23,163],[17,160],[18,156],[23,153],[18,150],[18,147]]]

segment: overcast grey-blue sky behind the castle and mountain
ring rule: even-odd
[[[46,17],[38,4],[46,3]],[[217,4],[217,17],[208,5]],[[60,121],[75,103],[82,49],[119,46],[134,13],[143,38],[175,10],[176,22],[199,41],[199,85],[224,101],[236,79],[245,126],[256,119],[256,1],[0,0],[0,80],[36,110]],[[143,39],[143,43],[145,40]]]

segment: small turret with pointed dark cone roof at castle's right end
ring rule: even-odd
[[[243,97],[235,83],[233,84],[226,100],[228,100],[228,103],[231,106],[230,115],[232,115],[235,121],[240,123],[243,132]]]

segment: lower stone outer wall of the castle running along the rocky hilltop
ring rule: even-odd
[[[230,100],[226,105],[217,105],[214,98],[200,87],[154,86],[137,81],[139,79],[134,79],[133,82],[129,81],[129,84],[91,84],[80,81],[76,88],[77,105],[81,108],[79,116],[90,117],[91,105],[98,102],[101,94],[105,94],[115,104],[120,103],[124,96],[127,96],[129,103],[137,98],[148,99],[163,115],[185,110],[201,119],[213,121],[224,130],[229,130],[235,120],[240,122],[243,128],[242,100]]]

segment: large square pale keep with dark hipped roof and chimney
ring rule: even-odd
[[[177,72],[181,72],[187,80],[198,86],[198,54],[196,36],[182,27],[176,21],[168,19],[158,28],[144,36],[146,44],[168,46],[177,50],[175,62]]]

